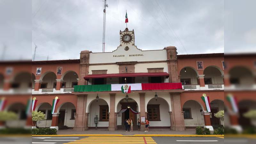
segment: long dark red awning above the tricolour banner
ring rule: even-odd
[[[124,74],[99,74],[99,75],[88,75],[84,76],[85,80],[90,78],[108,78],[108,77],[137,77],[137,76],[166,76],[169,77],[167,72],[160,73],[124,73]]]

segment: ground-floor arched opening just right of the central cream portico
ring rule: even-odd
[[[204,126],[204,116],[201,112],[204,107],[195,100],[188,100],[184,103],[184,123],[186,127]]]

